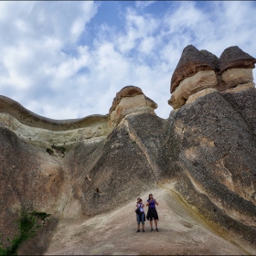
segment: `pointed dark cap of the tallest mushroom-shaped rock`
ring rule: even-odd
[[[208,60],[208,54],[200,52],[192,45],[183,49],[171,79],[171,92],[176,90],[179,82],[195,75],[200,70],[214,69],[214,65]],[[214,59],[210,56],[210,59]]]

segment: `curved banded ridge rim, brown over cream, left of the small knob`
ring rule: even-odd
[[[43,144],[100,141],[109,134],[108,115],[53,120],[28,111],[18,102],[0,95],[0,127],[25,140]]]

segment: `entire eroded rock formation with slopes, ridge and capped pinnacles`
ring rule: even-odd
[[[51,120],[0,97],[3,246],[21,210],[51,214],[19,254],[255,254],[256,59],[184,49],[169,118],[134,86],[109,114]],[[135,233],[153,193],[160,232]]]

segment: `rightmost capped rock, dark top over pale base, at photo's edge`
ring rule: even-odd
[[[226,48],[219,57],[221,80],[218,90],[226,91],[244,84],[254,87],[252,69],[255,68],[255,63],[256,59],[239,47]]]

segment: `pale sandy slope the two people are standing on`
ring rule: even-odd
[[[146,220],[145,232],[136,233],[136,198],[133,198],[126,206],[91,219],[61,220],[45,254],[248,254],[211,229],[174,192],[159,187],[138,197],[145,202],[149,193],[159,203],[159,232],[155,229],[150,232]]]

